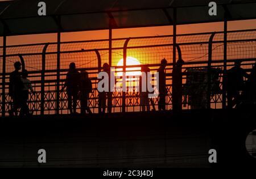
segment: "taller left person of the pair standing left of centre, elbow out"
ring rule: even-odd
[[[70,63],[65,84],[61,91],[67,87],[68,109],[71,114],[76,114],[77,98],[79,93],[80,73],[76,70],[76,64]],[[73,102],[73,103],[72,103]]]

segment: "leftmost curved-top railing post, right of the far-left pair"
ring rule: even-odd
[[[41,71],[41,115],[44,115],[44,87],[45,87],[45,75],[46,75],[46,50],[49,43],[44,46],[42,52],[42,71]]]

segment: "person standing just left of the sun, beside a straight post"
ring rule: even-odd
[[[105,113],[106,100],[108,99],[108,113],[112,113],[112,95],[113,95],[113,92],[111,90],[114,88],[114,86],[111,86],[111,83],[110,83],[110,77],[111,77],[112,71],[111,71],[110,66],[109,66],[108,63],[104,63],[103,71],[108,73],[109,89],[108,89],[108,92],[105,92],[105,91],[104,92],[99,92],[99,110],[100,110],[99,112],[100,113]]]

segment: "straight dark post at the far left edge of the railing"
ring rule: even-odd
[[[6,36],[3,36],[3,75],[2,75],[2,117],[5,117],[5,85],[6,85]]]

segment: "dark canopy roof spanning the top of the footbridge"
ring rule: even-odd
[[[256,19],[256,0],[217,0],[218,14],[209,16],[211,1],[43,0],[46,16],[38,15],[40,0],[4,1],[0,36],[173,25],[175,10],[177,25]]]

